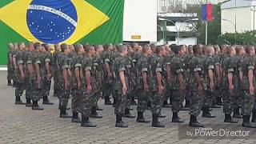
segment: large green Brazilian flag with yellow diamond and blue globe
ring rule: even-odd
[[[0,1],[0,65],[9,42],[122,42],[124,0]]]

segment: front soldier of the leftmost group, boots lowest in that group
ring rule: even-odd
[[[32,110],[43,110],[41,106],[38,106],[42,90],[41,49],[42,46],[39,42],[34,43],[34,52],[30,52],[27,58],[28,70],[30,71],[30,98],[33,101]]]

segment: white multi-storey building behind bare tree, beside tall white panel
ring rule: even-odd
[[[158,44],[197,44],[197,14],[158,14]]]

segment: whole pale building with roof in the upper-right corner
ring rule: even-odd
[[[256,29],[256,1],[231,0],[221,6],[222,34]]]

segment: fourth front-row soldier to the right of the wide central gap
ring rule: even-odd
[[[182,123],[184,122],[178,117],[178,112],[180,110],[180,105],[184,94],[186,91],[186,83],[184,78],[184,46],[174,46],[173,51],[175,53],[174,57],[170,59],[170,90],[172,95],[172,111],[173,118],[172,122]],[[184,99],[183,99],[184,100]]]

